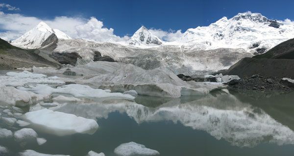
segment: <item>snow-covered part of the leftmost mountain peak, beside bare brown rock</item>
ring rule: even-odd
[[[55,34],[57,39],[71,39],[71,37],[64,32],[49,27],[45,22],[40,22],[23,36],[12,41],[11,44],[28,49],[40,48],[44,41],[46,41],[52,34]]]

